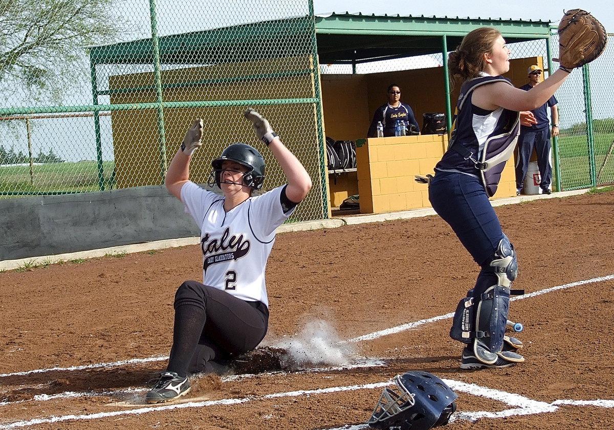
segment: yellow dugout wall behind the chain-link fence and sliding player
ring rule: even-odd
[[[286,58],[241,64],[173,69],[161,72],[163,101],[223,101],[313,98],[314,79],[309,70],[311,57]],[[303,72],[299,74],[296,71]],[[249,71],[249,73],[248,73]],[[306,71],[306,72],[305,72]],[[287,72],[286,76],[282,76]],[[247,75],[247,76],[246,76]],[[235,79],[230,77],[236,76]],[[117,75],[109,78],[112,104],[155,102],[152,73]],[[321,159],[317,139],[316,110],[311,104],[254,106],[270,120],[282,141],[303,162],[314,182],[295,215],[314,205],[322,207]],[[115,180],[118,188],[163,183],[164,163],[168,165],[181,145],[185,131],[195,118],[203,118],[203,146],[195,152],[190,179],[209,182],[211,160],[223,148],[236,142],[254,146],[266,162],[265,189],[286,183],[286,176],[274,156],[243,117],[246,106],[178,107],[164,109],[166,156],[161,156],[156,109],[115,110],[111,114],[115,156]],[[297,128],[297,123],[300,128]]]

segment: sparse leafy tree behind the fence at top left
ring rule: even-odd
[[[46,94],[74,82],[87,45],[111,42],[125,24],[114,0],[0,0],[0,84]]]

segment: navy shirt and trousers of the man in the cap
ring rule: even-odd
[[[529,83],[520,87],[521,90],[529,91],[533,88]],[[532,110],[537,124],[532,126],[521,126],[520,136],[518,137],[518,159],[516,160],[516,189],[522,191],[524,177],[529,168],[529,160],[533,153],[533,148],[537,153],[537,166],[539,167],[542,181],[542,190],[548,190],[552,182],[552,164],[550,164],[550,123],[548,121],[548,107],[558,104],[554,96],[542,106]]]

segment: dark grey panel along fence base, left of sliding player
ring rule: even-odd
[[[161,185],[4,199],[0,213],[0,261],[200,235]]]

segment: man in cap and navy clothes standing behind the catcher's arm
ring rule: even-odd
[[[539,66],[530,66],[527,70],[529,83],[520,87],[521,90],[529,91],[542,79],[542,69]],[[550,184],[552,182],[552,165],[550,164],[550,133],[552,136],[559,135],[559,108],[558,101],[554,96],[543,106],[532,110],[537,124],[531,126],[521,126],[520,136],[518,137],[518,158],[516,159],[516,195],[523,191],[523,181],[529,168],[529,160],[533,153],[533,148],[537,153],[537,167],[539,167],[542,182],[543,194],[550,194]],[[550,107],[550,117],[552,119],[552,130],[548,124],[548,106]]]

